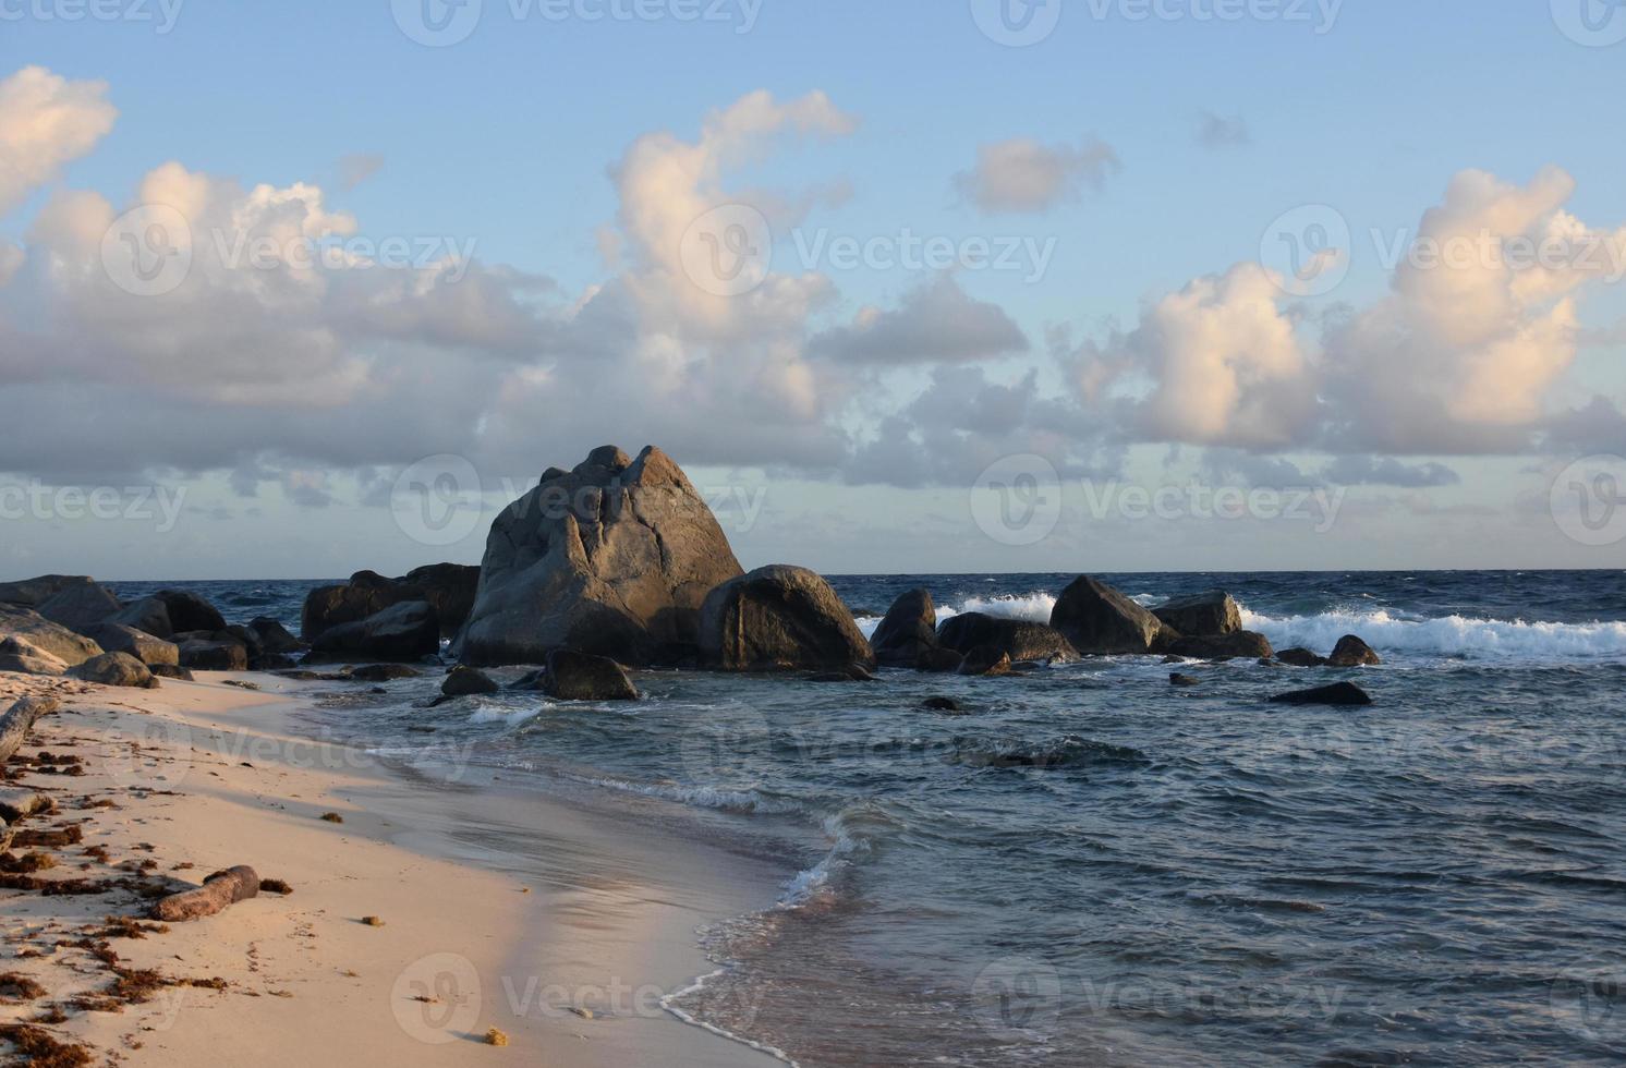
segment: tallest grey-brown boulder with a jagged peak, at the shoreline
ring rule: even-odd
[[[593,450],[491,523],[465,663],[541,663],[554,649],[621,663],[681,662],[707,593],[740,574],[728,538],[676,463]],[[862,642],[862,636],[860,636]],[[868,657],[868,645],[865,645]]]

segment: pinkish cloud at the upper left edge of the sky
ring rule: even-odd
[[[0,81],[0,215],[54,180],[112,128],[117,109],[102,81],[68,81],[24,67]]]

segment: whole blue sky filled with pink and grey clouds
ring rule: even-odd
[[[0,577],[1626,566],[1605,0],[0,0]]]

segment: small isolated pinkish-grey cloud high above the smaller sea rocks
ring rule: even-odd
[[[1119,171],[1117,153],[1096,138],[1076,148],[1015,138],[980,146],[977,166],[956,174],[954,187],[987,213],[1041,215],[1076,200],[1085,187],[1099,190]]]

